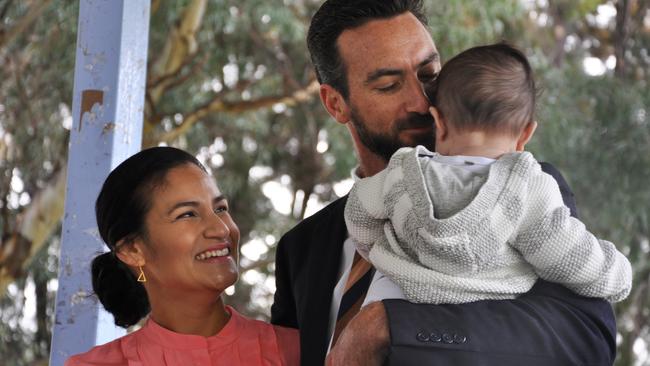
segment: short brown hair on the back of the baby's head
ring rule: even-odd
[[[537,90],[526,56],[497,43],[449,60],[427,95],[456,129],[518,135],[534,119]]]

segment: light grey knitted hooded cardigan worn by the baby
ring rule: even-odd
[[[432,199],[454,196],[429,183],[449,167],[440,169],[431,155],[421,146],[398,150],[385,170],[354,185],[345,207],[359,253],[408,300],[514,298],[539,277],[609,301],[629,294],[627,258],[570,216],[557,183],[530,153],[499,158],[472,198],[464,197],[468,204],[444,218],[435,207],[449,205]]]

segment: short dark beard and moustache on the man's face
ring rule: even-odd
[[[403,130],[411,128],[431,127],[435,131],[435,122],[431,114],[417,114],[409,113],[404,118],[395,121],[389,131],[386,132],[371,132],[368,129],[368,123],[358,113],[357,109],[352,107],[350,110],[350,119],[354,128],[357,131],[359,140],[374,154],[380,156],[386,162],[390,157],[402,147],[413,147],[423,145],[430,151],[435,151],[435,134],[418,136],[413,142],[400,141],[399,134]]]

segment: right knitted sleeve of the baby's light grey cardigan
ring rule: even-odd
[[[515,247],[543,279],[587,297],[621,301],[630,292],[630,262],[613,243],[600,240],[570,216],[549,175],[538,173],[528,186],[528,206]]]

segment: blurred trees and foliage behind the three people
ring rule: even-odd
[[[0,0],[0,365],[47,364],[78,4]],[[318,99],[316,0],[152,1],[143,147],[196,154],[242,233],[228,302],[268,319],[281,235],[345,195],[354,151]],[[426,1],[443,62],[507,40],[543,88],[529,149],[632,262],[617,365],[650,365],[650,0]],[[93,204],[89,202],[88,204]]]

